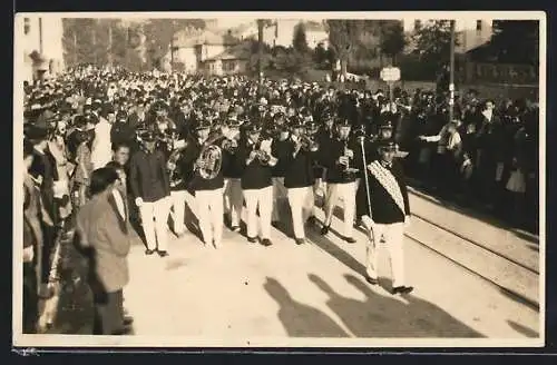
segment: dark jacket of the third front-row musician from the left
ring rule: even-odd
[[[237,150],[237,158],[244,165],[250,154],[260,148],[261,142],[252,144],[248,139],[241,142]],[[242,189],[263,189],[273,185],[273,168],[254,159],[250,165],[245,165],[242,174]]]

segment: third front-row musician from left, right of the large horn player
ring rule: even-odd
[[[271,141],[261,138],[256,122],[246,128],[247,138],[238,147],[238,159],[244,161],[242,189],[247,213],[247,240],[257,241],[257,208],[261,220],[261,244],[271,246],[271,213],[273,211],[272,167],[277,160],[271,155]]]

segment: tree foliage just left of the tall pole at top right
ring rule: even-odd
[[[434,62],[438,67],[449,61],[450,28],[450,20],[431,20],[412,36],[416,42],[414,53],[420,56],[421,61]],[[455,46],[458,46],[457,39],[455,39]]]

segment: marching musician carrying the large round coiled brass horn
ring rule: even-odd
[[[205,247],[219,248],[223,238],[222,149],[217,142],[222,136],[209,139],[211,122],[201,119],[195,127],[196,137],[184,150],[185,165],[192,166],[187,179],[188,189],[195,191],[199,229]]]

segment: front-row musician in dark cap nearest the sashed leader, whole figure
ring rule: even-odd
[[[353,244],[352,237],[355,214],[355,179],[358,168],[354,167],[355,141],[350,138],[351,124],[348,119],[340,119],[336,124],[336,137],[330,142],[324,154],[326,168],[325,182],[325,221],[321,230],[326,235],[333,219],[333,210],[339,200],[344,205],[344,233],[342,238]]]

